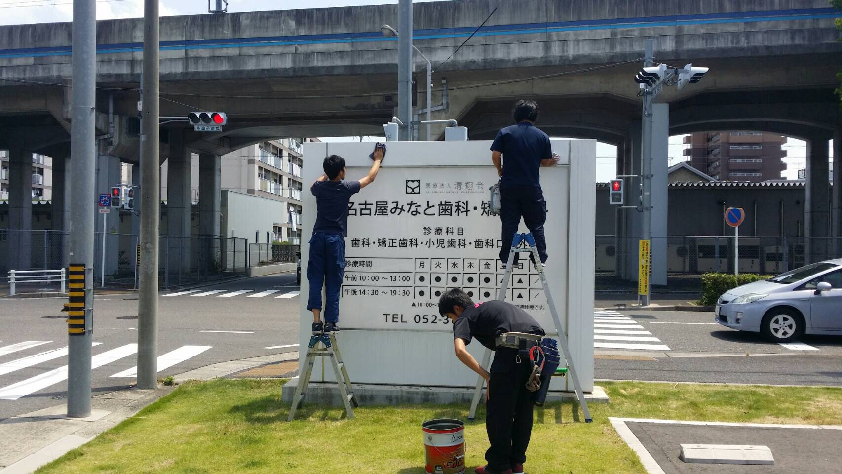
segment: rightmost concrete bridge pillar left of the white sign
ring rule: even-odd
[[[199,155],[199,235],[202,236],[200,269],[203,272],[221,263],[220,242],[217,237],[210,237],[218,236],[221,232],[221,168],[221,156],[209,153]]]

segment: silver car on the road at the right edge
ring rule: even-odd
[[[842,258],[728,290],[717,301],[716,321],[776,343],[842,335]]]

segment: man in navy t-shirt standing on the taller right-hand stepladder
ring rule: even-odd
[[[538,119],[538,104],[532,100],[520,100],[514,106],[514,123],[500,130],[491,145],[491,161],[500,176],[500,220],[503,221],[503,247],[500,259],[509,262],[514,233],[518,232],[520,217],[529,227],[541,264],[546,262],[546,201],[541,190],[539,169],[555,166],[558,158],[553,157],[550,137],[535,126]],[[532,256],[530,255],[530,258]],[[514,264],[518,254],[514,254]]]

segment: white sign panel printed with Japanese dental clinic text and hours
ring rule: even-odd
[[[474,301],[489,301],[498,299],[503,282],[500,217],[488,212],[488,187],[497,183],[497,172],[488,166],[389,165],[386,161],[375,183],[350,203],[340,327],[450,332],[450,320],[439,314],[445,290],[461,288]],[[547,182],[562,182],[561,168],[543,173]],[[545,189],[545,199],[553,203],[545,228],[552,241],[546,273],[559,305],[565,301],[564,278],[553,268],[565,262],[565,189],[563,184]],[[529,231],[523,226],[521,232]],[[522,257],[505,299],[553,333],[541,280]]]

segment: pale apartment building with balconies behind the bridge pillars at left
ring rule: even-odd
[[[303,143],[317,138],[284,138],[268,140],[223,155],[221,159],[221,189],[276,200],[277,215],[272,217],[271,240],[301,243],[301,167]],[[167,200],[167,162],[161,167],[161,199]],[[124,178],[128,180],[129,178]],[[193,203],[199,202],[199,156],[192,160]],[[231,210],[229,210],[231,211]],[[247,237],[237,236],[237,237]],[[253,234],[249,233],[251,240]],[[260,241],[264,237],[260,237]]]

